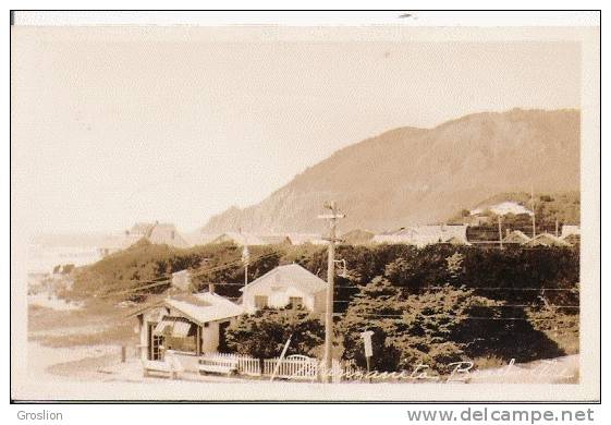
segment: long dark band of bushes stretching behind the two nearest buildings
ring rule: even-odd
[[[450,271],[447,258],[461,255],[461,265]],[[166,245],[138,243],[111,255],[75,276],[74,292],[83,296],[138,288],[150,281],[167,279],[182,269],[197,270],[196,287],[208,282],[229,298],[240,296],[244,267],[240,262],[242,248],[231,244],[195,246],[188,250]],[[429,245],[417,248],[408,245],[341,245],[338,258],[347,264],[347,277],[337,277],[337,309],[377,276],[384,276],[393,286],[410,293],[420,293],[440,282],[453,287],[465,286],[477,295],[514,304],[539,304],[541,298],[557,304],[578,304],[579,252],[574,247],[505,250],[479,246]],[[327,250],[325,246],[252,246],[248,280],[271,270],[279,264],[297,263],[326,279]],[[223,286],[222,283],[233,283]],[[237,284],[236,284],[237,283]],[[147,289],[139,293],[164,290]],[[563,289],[543,291],[542,289]],[[565,291],[572,289],[574,291]]]

